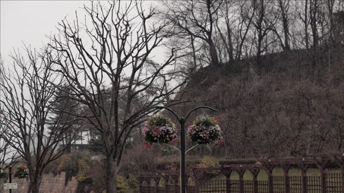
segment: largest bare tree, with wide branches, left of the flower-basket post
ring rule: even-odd
[[[71,86],[70,97],[91,112],[91,116],[78,116],[100,132],[106,192],[116,193],[117,174],[131,131],[153,111],[152,106],[170,100],[183,82],[176,81],[176,70],[171,66],[173,50],[162,64],[150,58],[162,45],[165,36],[161,32],[167,25],[152,21],[158,14],[155,7],[114,1],[106,5],[92,2],[84,10],[84,24],[78,16],[71,23],[63,20],[60,33],[51,37],[50,47],[60,55],[54,70]],[[103,96],[104,88],[108,97]]]

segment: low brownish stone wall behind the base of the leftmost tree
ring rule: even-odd
[[[72,177],[70,181],[65,185],[66,173],[62,172],[60,175],[54,176],[53,174],[43,175],[42,182],[40,184],[40,193],[76,193],[78,187],[78,181]],[[1,193],[9,193],[9,190],[3,190],[3,182],[1,182]],[[12,183],[18,184],[18,189],[12,189],[12,193],[27,193],[29,186],[28,179],[12,178]]]

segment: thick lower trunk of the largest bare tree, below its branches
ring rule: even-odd
[[[105,188],[106,193],[116,193],[118,169],[116,161],[112,155],[107,155],[105,159]]]

